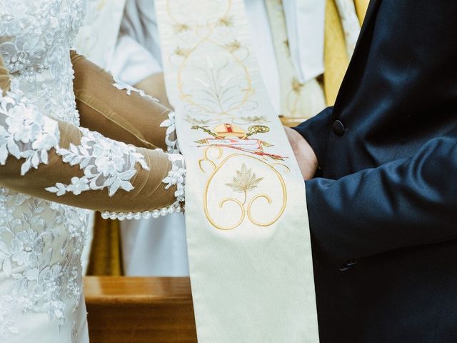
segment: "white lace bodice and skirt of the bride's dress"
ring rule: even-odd
[[[0,54],[21,101],[76,126],[69,49],[85,6],[84,0],[0,0]],[[21,156],[29,161],[25,173],[44,162],[50,146],[34,138],[49,129],[46,123],[0,118],[2,164],[5,155]],[[80,261],[88,214],[0,189],[0,342],[89,342]]]

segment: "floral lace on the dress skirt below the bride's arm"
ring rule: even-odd
[[[44,312],[61,326],[64,299],[79,305],[88,218],[87,210],[0,189],[0,270],[11,278],[0,295],[0,337],[19,333],[13,311]]]

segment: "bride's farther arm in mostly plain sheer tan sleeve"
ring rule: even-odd
[[[136,146],[174,148],[174,114],[170,109],[144,92],[114,81],[75,51],[71,51],[71,62],[81,126]]]

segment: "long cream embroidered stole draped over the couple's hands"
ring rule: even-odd
[[[241,0],[156,0],[200,343],[318,342],[303,179]]]

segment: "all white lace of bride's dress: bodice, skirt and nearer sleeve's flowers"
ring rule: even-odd
[[[70,46],[85,6],[85,0],[0,0],[0,56],[12,78],[10,91],[0,91],[0,166],[11,156],[21,159],[21,177],[47,164],[55,149],[84,177],[47,192],[100,190],[111,197],[134,188],[137,167],[149,170],[135,146],[82,127],[79,145],[59,146],[58,120],[79,126]],[[166,189],[177,185],[176,204],[160,214],[184,202],[182,156],[169,159],[173,169],[163,182]],[[89,342],[81,292],[88,219],[87,210],[0,188],[0,342]]]

